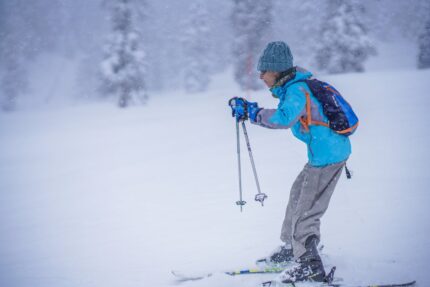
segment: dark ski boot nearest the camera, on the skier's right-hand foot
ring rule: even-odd
[[[318,254],[318,238],[310,236],[305,243],[306,252],[296,260],[293,266],[285,269],[280,279],[282,283],[302,281],[326,282],[326,274],[321,257]]]

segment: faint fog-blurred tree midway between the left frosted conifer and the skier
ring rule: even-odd
[[[188,92],[205,91],[210,81],[208,11],[204,4],[202,0],[192,3],[188,10],[190,17],[184,23],[184,85]]]

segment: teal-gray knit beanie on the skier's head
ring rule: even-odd
[[[258,61],[257,70],[283,72],[293,67],[293,55],[284,42],[270,42]]]

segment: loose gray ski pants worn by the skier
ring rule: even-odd
[[[297,259],[305,253],[310,235],[320,238],[320,219],[328,208],[331,195],[345,162],[325,167],[306,164],[295,180],[282,224],[281,240],[291,244]]]

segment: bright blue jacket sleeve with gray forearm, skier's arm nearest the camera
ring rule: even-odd
[[[288,88],[285,97],[277,109],[262,109],[257,114],[256,122],[269,129],[291,128],[306,113],[306,95],[299,85]]]

